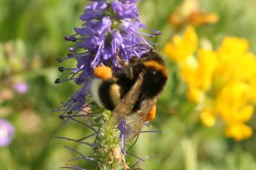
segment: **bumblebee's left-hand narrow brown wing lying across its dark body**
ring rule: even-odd
[[[141,86],[143,84],[143,75],[144,73],[140,73],[139,78],[136,80],[132,88],[116,105],[109,118],[108,125],[115,126],[117,123],[120,123],[120,121],[125,121],[125,117],[131,114],[132,108],[140,97]]]

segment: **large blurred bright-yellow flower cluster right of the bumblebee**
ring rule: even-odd
[[[164,48],[188,84],[188,99],[203,105],[202,123],[211,127],[220,117],[225,134],[236,141],[253,134],[246,122],[256,104],[256,58],[248,46],[243,38],[225,37],[218,50],[198,48],[195,29],[188,27]]]

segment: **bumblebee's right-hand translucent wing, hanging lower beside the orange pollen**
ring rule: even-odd
[[[130,141],[140,133],[145,121],[147,121],[148,112],[156,104],[156,98],[145,99],[141,103],[138,111],[125,116],[125,139]]]

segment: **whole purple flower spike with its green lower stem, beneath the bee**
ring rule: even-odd
[[[152,46],[156,43],[150,42],[147,38],[159,35],[160,32],[141,24],[136,6],[138,0],[88,1],[91,3],[85,6],[85,10],[80,16],[83,21],[82,26],[75,27],[75,33],[65,37],[65,40],[74,42],[74,47],[68,48],[70,54],[67,54],[65,58],[57,59],[59,62],[76,59],[77,65],[76,68],[60,66],[58,68],[60,72],[68,71],[71,76],[68,79],[56,79],[55,83],[74,81],[80,87],[72,93],[67,102],[62,102],[62,105],[54,111],[62,112],[59,118],[63,120],[63,123],[72,120],[92,134],[80,139],[60,138],[86,144],[93,148],[93,157],[86,157],[83,153],[69,148],[80,155],[71,160],[83,158],[95,164],[96,169],[140,169],[134,167],[138,162],[145,162],[147,157],[140,158],[129,153],[138,140],[138,136],[131,148],[125,150],[125,141],[131,140],[135,132],[139,133],[138,130],[133,129],[132,125],[134,124],[131,125],[131,122],[127,123],[128,116],[124,120],[120,118],[117,128],[109,127],[108,122],[111,123],[109,112],[102,111],[90,98],[92,95],[90,82],[95,77],[94,68],[105,65],[110,67],[115,75],[116,72],[122,71],[122,66],[124,66],[122,61],[129,63],[131,58],[140,58],[142,54],[152,50]],[[147,33],[144,33],[143,30]],[[138,117],[138,119],[140,118]],[[129,121],[135,122],[134,120]],[[93,143],[85,141],[89,137],[95,137]],[[132,155],[139,161],[129,168],[125,163],[125,155]],[[113,164],[109,160],[115,160],[118,164]],[[66,168],[82,169],[71,164]]]

